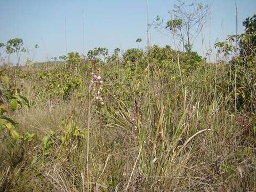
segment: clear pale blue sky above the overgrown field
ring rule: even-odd
[[[191,1],[185,1],[190,3]],[[202,0],[211,4],[211,21],[205,26],[193,50],[204,55],[217,38],[225,39],[236,32],[236,14],[233,0]],[[256,0],[236,0],[238,6],[238,33],[242,21],[256,13]],[[148,21],[156,15],[168,18],[176,0],[148,0]],[[67,18],[67,50],[83,52],[82,10],[84,10],[85,53],[94,47],[116,47],[125,50],[137,47],[137,38],[146,46],[146,0],[0,0],[0,42],[22,38],[28,47],[39,45],[30,53],[34,60],[45,61],[66,54],[65,18]],[[204,45],[202,45],[204,37]],[[150,29],[150,43],[172,45],[170,37]],[[26,54],[22,56],[24,62]],[[31,59],[31,58],[30,58]],[[12,57],[15,62],[15,57]]]

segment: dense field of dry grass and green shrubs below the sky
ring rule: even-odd
[[[218,63],[153,45],[2,67],[0,191],[254,191],[255,18]]]

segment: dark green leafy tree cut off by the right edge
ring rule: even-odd
[[[228,75],[225,81],[221,79],[218,93],[230,98],[229,102],[234,103],[239,111],[254,111],[256,107],[255,21],[256,15],[247,18],[243,22],[244,34],[229,35],[226,41],[215,44],[219,53],[231,58],[226,66]]]

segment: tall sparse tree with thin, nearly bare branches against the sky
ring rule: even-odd
[[[210,6],[202,3],[185,4],[178,1],[168,12],[170,20],[164,22],[157,15],[152,25],[162,34],[178,39],[187,52],[190,52],[197,36],[201,33],[205,22],[209,19]]]

